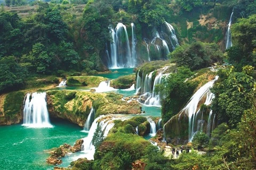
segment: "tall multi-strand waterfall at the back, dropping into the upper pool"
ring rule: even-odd
[[[134,24],[132,26],[132,52],[129,43],[129,37],[126,27],[123,23],[119,22],[115,31],[111,29],[112,42],[110,44],[109,67],[117,69],[122,67],[135,67],[136,63],[136,38],[134,34]]]

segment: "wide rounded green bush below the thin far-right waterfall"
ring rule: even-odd
[[[187,66],[198,70],[222,62],[222,53],[216,44],[193,43],[177,47],[169,57],[178,66]]]

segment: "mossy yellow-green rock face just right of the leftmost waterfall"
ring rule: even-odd
[[[51,117],[63,118],[83,127],[91,108],[95,117],[102,114],[140,114],[137,101],[127,103],[123,96],[115,93],[92,93],[89,91],[47,91],[47,107]]]

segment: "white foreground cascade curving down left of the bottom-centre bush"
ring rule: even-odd
[[[115,125],[114,120],[124,121],[125,119],[126,117],[121,115],[100,115],[99,117],[95,118],[87,137],[83,138],[84,143],[82,145],[82,152],[84,153],[84,155],[82,156],[87,158],[88,160],[93,159],[95,147],[93,146],[92,139],[98,126],[100,126],[103,138],[106,138],[111,128],[113,128]]]

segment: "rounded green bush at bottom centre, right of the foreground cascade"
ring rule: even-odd
[[[143,150],[150,145],[142,137],[131,133],[111,133],[94,154],[101,168],[131,169],[131,163],[143,156]]]

